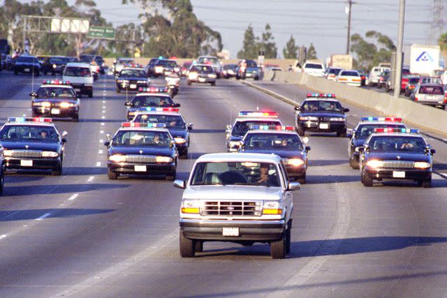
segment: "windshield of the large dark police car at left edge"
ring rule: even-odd
[[[52,126],[6,125],[0,131],[1,142],[58,142]]]

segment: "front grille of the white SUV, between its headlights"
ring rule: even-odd
[[[262,201],[205,201],[202,216],[261,216]]]

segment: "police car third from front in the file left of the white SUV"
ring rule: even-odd
[[[146,112],[150,107],[180,107],[179,103],[174,103],[166,92],[167,88],[140,88],[131,101],[126,101],[127,119],[131,121],[138,112]]]

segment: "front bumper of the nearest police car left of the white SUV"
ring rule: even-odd
[[[113,163],[108,161],[108,168],[120,174],[175,174],[173,163]]]

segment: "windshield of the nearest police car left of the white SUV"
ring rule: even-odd
[[[113,138],[113,146],[169,147],[170,135],[166,131],[119,131]]]

